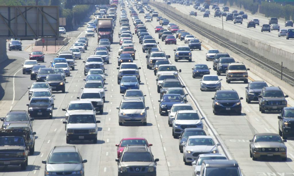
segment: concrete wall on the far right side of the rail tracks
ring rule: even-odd
[[[150,4],[153,6],[165,7],[166,9],[173,11],[175,14],[178,14],[183,19],[188,19],[188,21],[191,21],[192,23],[195,23],[199,26],[203,26],[204,28],[209,29],[210,31],[214,33],[217,33],[218,35],[223,36],[229,39],[230,41],[233,41],[239,45],[245,46],[249,48],[251,51],[258,53],[261,56],[273,62],[276,62],[278,64],[281,64],[281,62],[283,62],[283,66],[286,66],[288,69],[294,71],[294,53],[292,53],[294,50],[291,52],[284,51],[280,48],[276,48],[276,47],[267,45],[265,43],[261,43],[260,41],[256,41],[252,38],[244,37],[239,34],[226,31],[215,26],[211,26],[210,24],[206,24],[205,22],[200,21],[196,19],[195,17],[191,17],[189,15],[183,14],[182,12],[178,11],[174,7],[168,6],[164,3],[151,2]]]

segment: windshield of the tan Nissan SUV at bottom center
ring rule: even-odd
[[[122,162],[152,162],[149,152],[124,152]]]

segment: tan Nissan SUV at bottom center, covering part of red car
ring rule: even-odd
[[[145,175],[156,176],[156,162],[149,147],[142,145],[127,145],[118,162],[118,176]]]

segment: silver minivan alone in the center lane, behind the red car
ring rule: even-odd
[[[118,124],[123,123],[143,123],[147,125],[147,111],[145,103],[141,98],[124,98],[118,109]]]

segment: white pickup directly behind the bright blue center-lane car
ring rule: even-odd
[[[140,74],[139,69],[141,67],[138,67],[136,63],[121,63],[118,69],[118,75],[117,75],[117,83],[119,84],[121,81],[121,78],[123,76],[136,76],[138,81],[140,81]]]

